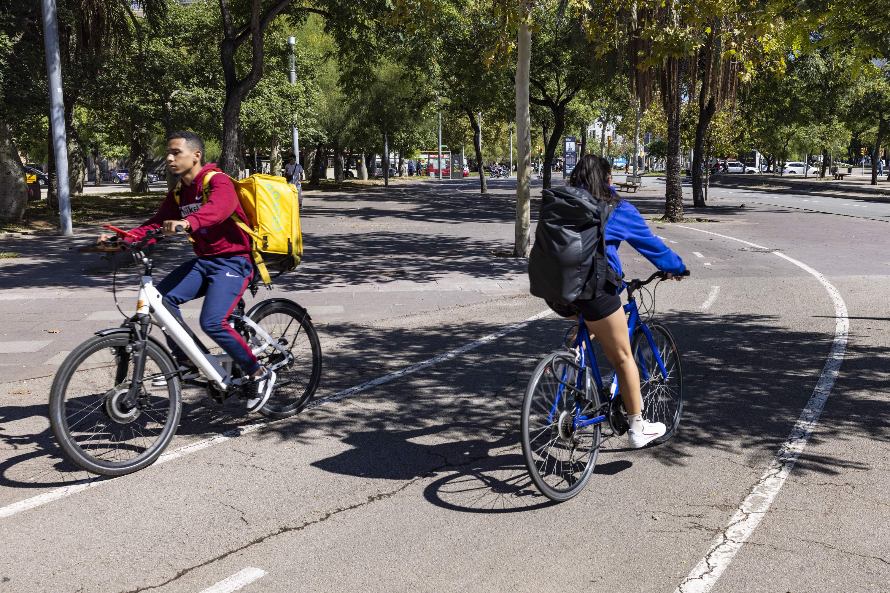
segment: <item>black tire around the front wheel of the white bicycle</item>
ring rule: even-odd
[[[53,385],[50,388],[50,429],[53,431],[56,443],[59,444],[62,453],[64,453],[68,461],[71,461],[80,469],[100,476],[124,476],[125,474],[132,474],[134,471],[149,467],[158,460],[161,453],[164,453],[167,445],[170,445],[170,441],[176,434],[176,429],[179,428],[179,421],[182,416],[182,391],[180,390],[179,381],[173,380],[168,381],[168,386],[173,388],[173,391],[169,393],[172,415],[170,420],[166,422],[161,436],[158,437],[158,441],[146,451],[148,454],[143,453],[132,460],[118,463],[99,462],[95,458],[82,453],[80,447],[71,438],[68,421],[64,414],[64,395],[73,372],[77,369],[77,366],[93,353],[99,352],[102,349],[125,346],[129,342],[128,338],[121,335],[95,336],[83,342],[62,361],[53,379]],[[173,357],[170,356],[166,349],[152,341],[147,343],[146,348],[149,349],[147,354],[158,363],[161,372],[173,373],[176,370]]]

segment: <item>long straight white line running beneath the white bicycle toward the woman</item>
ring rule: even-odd
[[[422,363],[417,363],[417,365],[406,366],[405,368],[396,371],[395,373],[389,373],[382,377],[377,377],[376,379],[372,379],[371,381],[366,381],[361,383],[360,385],[356,385],[355,387],[351,387],[349,389],[344,389],[333,396],[329,397],[320,397],[312,402],[312,404],[307,405],[307,410],[312,410],[312,408],[317,408],[320,405],[325,405],[330,402],[336,402],[338,399],[343,399],[344,397],[352,396],[356,393],[360,393],[361,391],[365,391],[366,389],[371,389],[372,387],[376,387],[377,385],[382,385],[384,383],[388,383],[389,381],[393,381],[395,379],[400,379],[407,374],[417,373],[417,371],[421,371],[428,366],[438,365],[439,363],[449,360],[451,358],[460,356],[465,352],[479,348],[483,344],[487,344],[490,341],[497,340],[505,336],[507,333],[513,333],[517,330],[521,330],[523,327],[530,325],[533,321],[537,321],[543,317],[547,317],[553,313],[552,310],[546,309],[546,311],[541,311],[540,313],[525,319],[514,325],[509,325],[499,332],[491,333],[484,338],[481,338],[477,341],[470,342],[469,344],[465,344],[460,348],[456,348],[453,350],[449,350],[443,354],[440,354],[437,357],[427,358]],[[248,435],[252,432],[256,432],[259,429],[262,429],[267,424],[274,422],[273,420],[263,419],[255,422],[250,422],[247,424],[242,424],[235,429],[231,429],[227,432],[224,432],[222,435],[214,435],[213,437],[209,437],[204,439],[203,441],[198,441],[197,443],[192,443],[191,445],[185,445],[176,449],[175,451],[171,451],[169,453],[164,453],[160,457],[158,457],[158,461],[155,461],[152,467],[159,465],[161,463],[166,463],[167,461],[173,461],[174,459],[178,459],[183,455],[188,455],[190,453],[195,453],[200,451],[201,449],[206,449],[211,445],[218,445],[219,443],[223,443],[225,441],[229,441],[233,438],[243,437],[244,435]],[[143,470],[145,471],[145,470]],[[123,476],[122,476],[123,477]],[[13,502],[10,505],[7,505],[3,508],[0,508],[0,518],[11,517],[17,513],[20,513],[23,510],[34,509],[35,507],[39,507],[41,505],[46,504],[47,502],[57,501],[61,498],[65,498],[66,496],[70,496],[71,494],[76,494],[79,492],[83,492],[88,488],[92,488],[93,486],[108,484],[111,480],[119,479],[117,477],[93,477],[86,480],[81,480],[79,482],[75,482],[73,484],[62,486],[61,488],[56,488],[55,490],[51,490],[47,493],[37,494],[36,496],[32,496],[31,498],[25,499],[24,501]]]

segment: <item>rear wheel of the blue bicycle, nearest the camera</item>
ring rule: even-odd
[[[572,354],[564,350],[542,360],[531,375],[522,401],[525,465],[538,491],[556,502],[568,501],[587,484],[601,438],[600,424],[575,426],[578,416],[594,413],[596,406],[571,389],[560,389],[562,382],[575,384],[578,368],[571,361]],[[598,401],[598,395],[594,397]]]

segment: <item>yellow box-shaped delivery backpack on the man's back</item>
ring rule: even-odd
[[[217,171],[204,176],[201,204],[210,194],[210,178]],[[224,173],[223,173],[224,174]],[[257,173],[243,180],[231,180],[247,220],[232,214],[231,220],[250,236],[250,253],[263,283],[271,286],[269,270],[278,275],[296,268],[303,258],[303,236],[300,234],[300,208],[294,186],[283,177]],[[173,190],[179,204],[179,184]]]

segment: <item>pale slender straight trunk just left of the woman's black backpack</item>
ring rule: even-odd
[[[513,247],[515,257],[529,257],[531,252],[530,65],[531,29],[529,24],[522,20],[519,25],[519,43],[516,50],[516,224]]]

